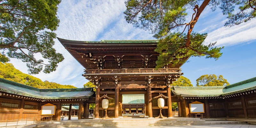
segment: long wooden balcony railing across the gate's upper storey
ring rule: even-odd
[[[85,74],[104,74],[104,73],[163,73],[179,72],[180,68],[139,68],[139,69],[87,69]]]

